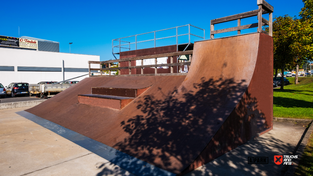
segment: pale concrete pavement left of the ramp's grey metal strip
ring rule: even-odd
[[[133,175],[14,112],[0,110],[0,176]]]

